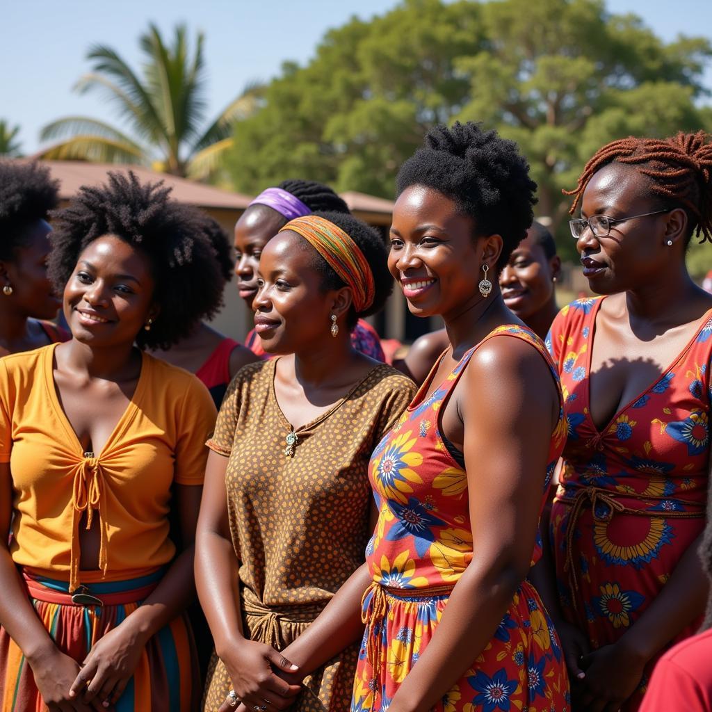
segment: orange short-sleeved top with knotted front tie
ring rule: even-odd
[[[56,345],[0,360],[0,462],[13,488],[11,555],[36,575],[124,580],[167,564],[171,487],[203,483],[216,412],[192,374],[142,355],[136,390],[100,453],[85,453],[53,379]],[[80,571],[79,527],[98,518],[98,569]]]

